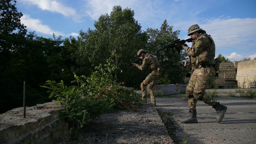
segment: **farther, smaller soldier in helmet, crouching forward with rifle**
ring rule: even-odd
[[[153,86],[156,84],[158,80],[157,75],[157,70],[158,67],[160,67],[158,58],[152,54],[146,54],[146,50],[140,49],[137,52],[137,56],[142,59],[142,65],[132,63],[133,66],[137,67],[140,70],[150,70],[150,74],[146,77],[145,80],[140,84],[140,88],[142,91],[142,100],[146,102],[146,97],[147,97],[147,90],[146,86],[148,86],[148,90],[150,92],[150,98],[151,98],[151,103],[156,106],[156,98],[154,96],[154,90],[152,90]]]

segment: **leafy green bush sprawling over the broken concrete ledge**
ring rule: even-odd
[[[118,70],[113,60],[107,60],[104,66],[95,67],[90,77],[76,76],[76,86],[65,86],[63,81],[47,81],[43,88],[48,88],[50,98],[65,108],[64,117],[82,128],[90,118],[99,116],[114,109],[129,109],[141,105],[141,99],[133,89],[122,88],[114,81],[113,73]]]

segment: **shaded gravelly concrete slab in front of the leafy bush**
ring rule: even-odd
[[[102,114],[84,128],[78,140],[58,144],[173,144],[153,104]]]

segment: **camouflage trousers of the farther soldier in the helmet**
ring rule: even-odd
[[[156,102],[156,98],[154,96],[154,90],[152,88],[156,84],[158,78],[156,76],[156,70],[153,70],[146,78],[143,80],[143,82],[140,84],[141,92],[142,92],[142,100],[145,100],[147,98],[147,90],[146,86],[148,86],[148,91],[150,92],[150,99],[151,102]]]

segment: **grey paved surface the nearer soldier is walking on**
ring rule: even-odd
[[[216,91],[216,90],[209,90]],[[156,109],[169,112],[173,121],[174,142],[186,140],[187,144],[256,144],[256,100],[224,97],[229,93],[239,96],[235,89],[217,90],[214,100],[228,107],[222,122],[216,122],[212,106],[197,102],[197,124],[180,124],[188,116],[188,102],[182,98],[157,98]],[[150,98],[148,98],[150,102]]]

